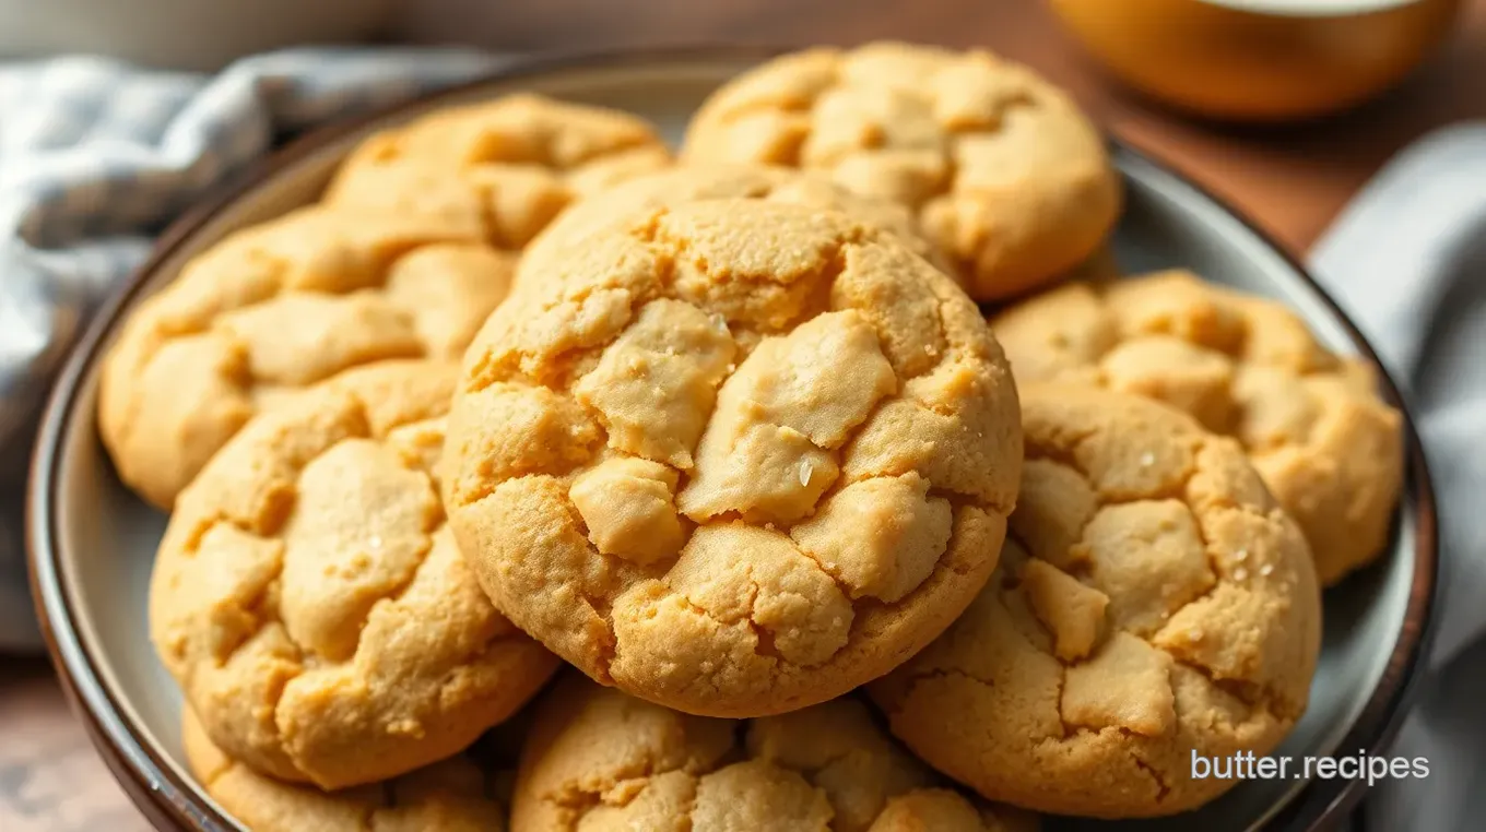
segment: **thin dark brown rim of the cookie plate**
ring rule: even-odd
[[[58,557],[58,517],[55,493],[59,487],[58,465],[61,438],[68,435],[73,419],[79,416],[82,379],[103,357],[108,336],[122,321],[123,311],[135,296],[152,282],[153,275],[177,250],[195,238],[202,227],[230,208],[239,198],[263,187],[265,183],[282,174],[306,156],[346,135],[370,129],[383,120],[395,120],[401,114],[424,110],[447,100],[458,100],[487,86],[520,83],[523,79],[545,74],[620,68],[632,65],[664,65],[687,62],[762,62],[794,48],[779,46],[669,46],[657,49],[615,49],[560,52],[538,56],[516,58],[492,71],[441,88],[434,92],[389,105],[374,107],[357,116],[337,119],[325,126],[314,128],[293,138],[279,150],[250,163],[239,175],[218,186],[177,220],[169,223],[159,236],[149,257],[114,290],[95,312],[85,333],[71,348],[67,363],[52,386],[42,416],[27,481],[25,548],[31,584],[31,597],[40,621],[42,636],[52,666],[67,700],[82,721],[113,777],[128,793],[135,807],[158,829],[180,829],[192,832],[233,832],[241,829],[235,820],[223,814],[212,801],[196,796],[195,784],[183,779],[175,768],[162,759],[146,743],[138,727],[132,725],[120,710],[111,691],[101,682],[94,657],[82,643],[74,628],[73,602],[62,588],[59,575],[65,569]],[[1394,383],[1386,365],[1378,358],[1367,337],[1342,311],[1336,300],[1302,264],[1296,253],[1279,242],[1251,215],[1233,207],[1226,198],[1205,187],[1195,177],[1159,156],[1143,150],[1138,144],[1119,137],[1110,138],[1112,147],[1128,153],[1140,162],[1174,177],[1186,187],[1233,217],[1262,244],[1276,253],[1294,275],[1315,293],[1321,305],[1340,324],[1358,357],[1376,371],[1383,398],[1401,415],[1404,452],[1404,489],[1400,495],[1400,510],[1409,507],[1407,496],[1413,493],[1415,553],[1404,609],[1403,627],[1388,657],[1383,673],[1367,703],[1352,722],[1351,729],[1337,744],[1345,747],[1383,747],[1397,734],[1407,704],[1416,694],[1418,673],[1433,636],[1435,584],[1438,576],[1438,532],[1434,489],[1430,478],[1424,447],[1413,426],[1413,417],[1398,385]],[[1312,780],[1290,798],[1269,829],[1327,829],[1343,819],[1361,799],[1366,786],[1361,780]]]

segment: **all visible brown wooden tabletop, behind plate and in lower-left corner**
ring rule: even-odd
[[[1068,86],[1106,125],[1164,156],[1303,251],[1398,149],[1486,117],[1486,0],[1409,83],[1345,116],[1282,128],[1181,119],[1091,67],[1036,0],[412,0],[397,31],[428,43],[596,49],[678,43],[990,46]],[[146,829],[42,660],[0,658],[0,831]]]

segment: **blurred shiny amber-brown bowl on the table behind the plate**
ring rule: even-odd
[[[1318,116],[1398,83],[1459,0],[1049,0],[1110,71],[1235,120]]]

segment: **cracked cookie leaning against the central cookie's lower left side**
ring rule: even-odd
[[[556,669],[444,523],[456,374],[343,373],[257,416],[181,492],[150,636],[233,759],[324,789],[385,780],[462,750]]]

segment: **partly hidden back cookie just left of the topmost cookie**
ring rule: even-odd
[[[432,214],[517,251],[574,199],[667,165],[670,150],[643,119],[520,94],[373,135],[324,202]]]

